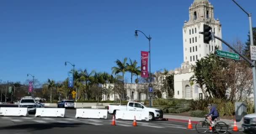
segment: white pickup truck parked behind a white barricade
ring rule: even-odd
[[[128,102],[127,106],[108,105],[108,113],[115,114],[117,110],[123,111],[149,111],[149,121],[163,118],[163,111],[156,108],[147,108],[138,102]]]

